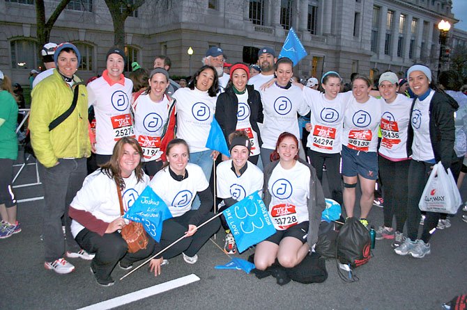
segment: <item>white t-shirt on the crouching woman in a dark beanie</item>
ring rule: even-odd
[[[232,160],[217,165],[217,197],[234,198],[237,201],[263,189],[263,172],[247,162],[247,170],[240,177],[232,170]],[[261,196],[261,193],[259,194]]]

